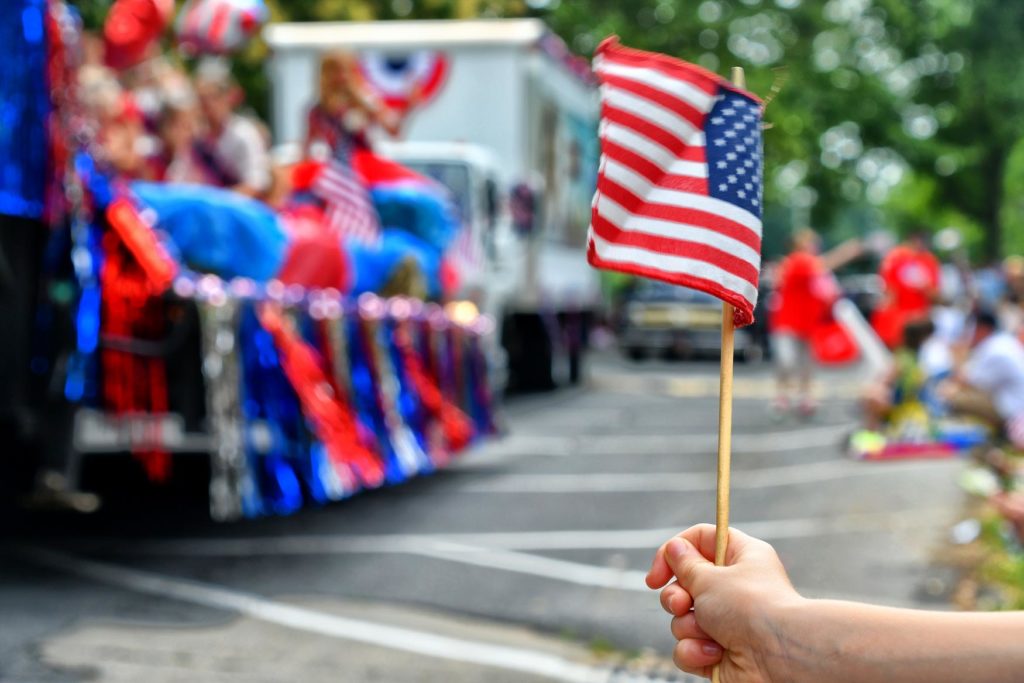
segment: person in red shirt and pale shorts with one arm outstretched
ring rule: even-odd
[[[768,303],[768,329],[777,373],[775,410],[779,414],[793,407],[794,385],[800,414],[808,417],[814,413],[811,339],[830,319],[833,304],[840,296],[831,271],[863,251],[856,241],[844,243],[823,256],[818,254],[820,248],[820,238],[810,228],[793,236],[793,251],[778,265]]]

